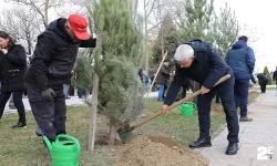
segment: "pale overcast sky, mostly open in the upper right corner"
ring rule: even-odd
[[[224,8],[225,2],[236,12],[240,25],[249,28],[250,31],[244,31],[242,35],[258,39],[258,41],[250,43],[256,52],[255,71],[261,72],[266,65],[269,71],[274,71],[277,66],[277,44],[275,40],[277,37],[277,23],[275,23],[277,0],[215,0],[216,10]],[[3,0],[0,0],[0,10],[3,8],[9,7]],[[51,18],[51,20],[53,19]]]

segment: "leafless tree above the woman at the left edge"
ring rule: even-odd
[[[31,54],[37,35],[39,34],[38,20],[34,12],[16,8],[1,11],[0,29],[9,32],[13,38],[22,41],[27,46],[27,53]]]

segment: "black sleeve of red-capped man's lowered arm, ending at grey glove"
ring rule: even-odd
[[[55,40],[51,34],[41,34],[34,49],[31,68],[34,71],[37,85],[41,91],[49,89],[47,65],[55,51]]]

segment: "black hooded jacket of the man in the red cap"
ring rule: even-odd
[[[95,48],[96,40],[73,42],[64,29],[66,19],[60,18],[49,24],[38,37],[24,81],[35,84],[40,91],[62,89],[70,77],[79,48]]]

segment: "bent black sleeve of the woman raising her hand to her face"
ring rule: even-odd
[[[23,46],[18,46],[19,49],[17,49],[16,53],[10,53],[8,52],[6,54],[6,58],[9,62],[16,64],[16,65],[24,65],[25,64],[25,50]]]

